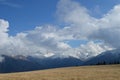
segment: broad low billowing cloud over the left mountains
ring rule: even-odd
[[[3,23],[6,21],[3,20]],[[40,57],[48,53],[60,53],[70,48],[57,35],[57,30],[53,26],[36,27],[34,30],[25,33],[18,33],[16,36],[8,36],[7,28],[1,24],[1,40],[6,44],[1,44],[0,53],[8,55],[39,55]],[[5,26],[6,27],[6,26]],[[5,31],[6,30],[6,31]],[[6,37],[6,38],[3,38]]]

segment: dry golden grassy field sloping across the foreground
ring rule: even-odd
[[[0,74],[0,80],[120,80],[120,65],[81,66]]]

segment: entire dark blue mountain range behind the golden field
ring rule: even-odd
[[[3,60],[0,62],[0,73],[10,73],[70,66],[120,63],[120,49],[106,51],[84,61],[73,56],[36,58],[22,55],[1,55],[1,57],[3,57]]]

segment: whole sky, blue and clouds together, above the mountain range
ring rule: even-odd
[[[0,10],[0,54],[86,59],[120,47],[120,0],[0,0]]]

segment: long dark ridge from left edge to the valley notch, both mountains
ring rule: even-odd
[[[0,62],[0,72],[23,72],[42,70],[49,68],[70,67],[78,66],[82,64],[80,59],[74,57],[68,58],[36,58],[32,56],[8,56],[2,55],[4,58]]]

